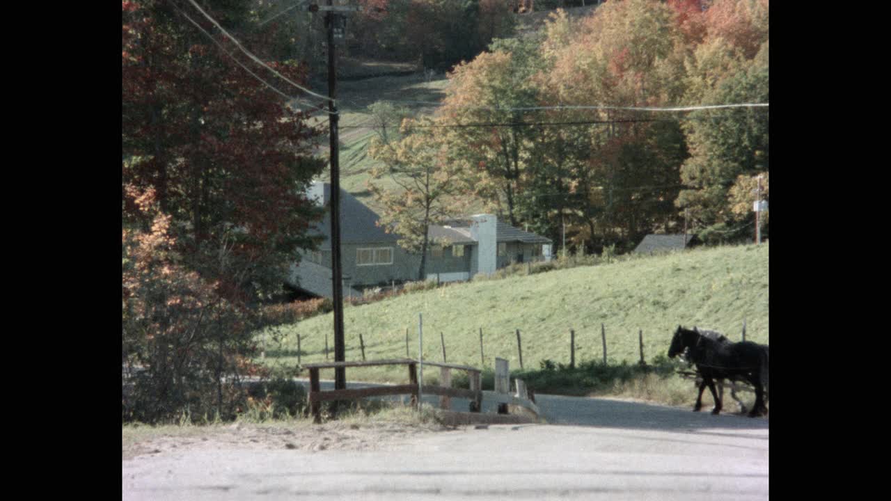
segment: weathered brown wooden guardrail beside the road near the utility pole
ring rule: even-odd
[[[451,398],[470,398],[470,412],[479,412],[482,407],[483,392],[480,384],[480,371],[476,367],[457,364],[440,364],[437,362],[423,361],[424,365],[439,367],[440,384],[424,384],[421,393],[429,393],[439,396],[439,405],[442,408],[451,406]],[[376,386],[373,388],[356,388],[350,390],[325,390],[321,388],[319,369],[340,367],[368,367],[372,365],[408,365],[409,384],[397,384],[393,386]],[[355,398],[380,397],[383,395],[412,395],[412,404],[418,405],[418,361],[411,358],[393,358],[387,360],[369,360],[364,362],[324,362],[320,364],[307,364],[303,368],[309,371],[309,408],[315,423],[321,423],[321,402],[331,400],[349,400]],[[467,371],[470,379],[470,390],[452,388],[452,370]]]

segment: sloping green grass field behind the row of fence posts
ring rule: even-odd
[[[591,267],[575,267],[501,280],[454,283],[436,290],[344,309],[347,360],[361,360],[359,334],[369,360],[418,356],[419,316],[423,317],[424,358],[480,366],[495,357],[519,369],[538,369],[543,360],[569,361],[569,330],[576,332],[576,364],[601,360],[601,324],[609,364],[665,355],[678,324],[723,332],[740,341],[743,319],[748,341],[769,343],[768,256],[770,245],[688,250]],[[300,335],[303,364],[325,360],[325,339],[333,360],[333,316],[315,316],[266,333],[267,365],[295,367]],[[278,337],[278,341],[274,338]],[[263,336],[258,339],[263,339]],[[328,373],[331,374],[328,374]],[[299,375],[306,376],[306,372]],[[430,374],[434,375],[434,374]],[[333,370],[323,371],[333,378]],[[435,377],[435,376],[434,376]],[[347,381],[407,382],[402,367],[348,368]]]

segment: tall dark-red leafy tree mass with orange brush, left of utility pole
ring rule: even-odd
[[[201,5],[268,58],[252,4]],[[282,77],[303,82],[303,66],[267,59],[275,76],[191,3],[123,1],[122,18],[123,355],[146,369],[137,393],[151,399],[137,415],[157,420],[208,408],[192,376],[243,373],[257,306],[281,290],[297,249],[314,246],[319,214],[304,193],[322,165],[319,132],[270,88],[296,94]],[[224,416],[226,388],[212,396]]]

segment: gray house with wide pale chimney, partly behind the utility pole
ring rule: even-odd
[[[315,182],[310,198],[326,206],[331,185]],[[351,194],[340,190],[340,266],[344,295],[360,289],[418,280],[421,256],[399,247],[399,236],[377,226],[379,216]],[[331,213],[314,232],[324,237],[318,251],[307,251],[287,280],[299,291],[331,297]],[[492,214],[430,226],[425,278],[440,282],[469,280],[511,263],[550,259],[551,240],[506,225]],[[327,285],[323,285],[327,281]],[[349,290],[352,288],[352,290]]]

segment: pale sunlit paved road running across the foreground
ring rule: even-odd
[[[551,424],[463,427],[396,450],[233,448],[125,461],[123,499],[768,498],[764,418],[536,399]]]

